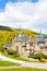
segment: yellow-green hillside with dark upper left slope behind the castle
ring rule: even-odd
[[[14,37],[19,36],[20,28],[11,28],[7,26],[0,26],[0,50],[7,42],[12,42]],[[22,29],[22,35],[38,37],[39,34],[30,29]]]

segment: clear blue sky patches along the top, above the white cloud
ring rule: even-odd
[[[24,1],[30,1],[30,0],[0,0],[0,12],[4,11],[5,4],[11,1],[11,2],[24,2]],[[31,0],[31,2],[36,3],[38,0]]]

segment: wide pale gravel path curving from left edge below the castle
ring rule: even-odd
[[[3,61],[11,61],[11,62],[14,62],[14,63],[21,63],[22,66],[20,66],[20,68],[37,68],[37,69],[46,69],[47,70],[47,63],[35,63],[35,62],[20,61],[20,60],[7,58],[7,57],[2,56],[1,54],[0,54],[0,59],[3,60]],[[10,68],[10,67],[8,67],[8,68]],[[13,68],[15,68],[15,67],[13,67]]]

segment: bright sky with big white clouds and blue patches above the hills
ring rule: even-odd
[[[0,0],[0,25],[47,34],[47,0]]]

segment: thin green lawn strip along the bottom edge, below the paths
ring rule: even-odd
[[[47,71],[43,69],[21,68],[21,69],[5,69],[0,71]]]

